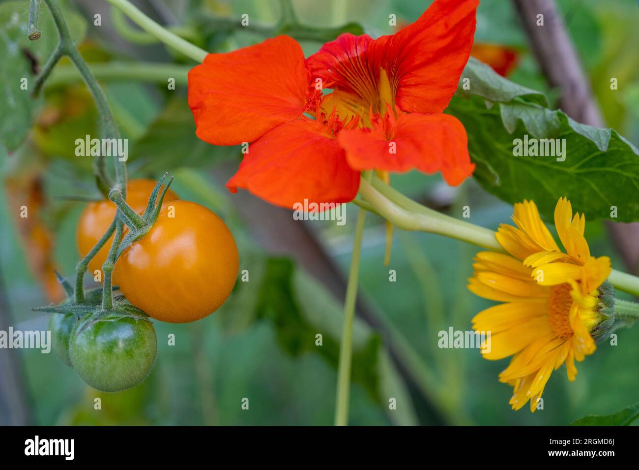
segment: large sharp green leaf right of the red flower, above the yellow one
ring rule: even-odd
[[[459,90],[447,113],[464,124],[477,165],[473,176],[486,191],[509,203],[532,199],[549,221],[562,196],[590,220],[610,219],[612,206],[617,207],[615,221],[639,220],[639,150],[629,141],[615,130],[548,109],[541,93],[509,82],[475,59],[468,62],[460,86],[464,77],[471,78],[470,90]],[[515,155],[524,139],[565,139],[565,153]],[[550,142],[542,143],[551,149]]]

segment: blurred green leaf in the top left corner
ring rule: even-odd
[[[31,97],[38,70],[58,44],[58,32],[49,11],[40,11],[39,40],[27,39],[29,5],[24,1],[0,4],[0,143],[13,151],[26,138],[41,100]],[[79,42],[86,23],[77,13],[65,12],[73,40]],[[26,84],[26,90],[22,90]]]

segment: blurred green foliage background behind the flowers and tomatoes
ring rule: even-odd
[[[428,3],[293,2],[305,24],[339,26],[356,21],[371,35],[392,32],[390,13],[395,13],[399,22],[409,23]],[[113,28],[105,2],[65,4],[89,25],[85,25],[81,51],[93,63],[189,63],[162,45],[135,45],[123,39],[122,31]],[[162,4],[168,6],[168,12],[160,11],[158,2],[139,4],[158,20],[188,25],[192,40],[210,51],[229,51],[259,42],[264,36],[212,31],[207,15],[237,18],[248,13],[251,20],[263,24],[274,24],[279,18],[273,0],[167,1]],[[603,96],[609,90],[608,77],[623,81],[617,100],[606,98],[599,104],[607,124],[639,145],[637,3],[566,0],[559,4],[596,95]],[[103,27],[93,26],[94,12],[102,13]],[[26,13],[22,15],[26,25]],[[44,6],[41,15],[49,15]],[[81,28],[82,22],[78,25]],[[43,36],[41,40],[53,38]],[[556,97],[528,52],[510,2],[481,1],[475,41],[519,51],[519,62],[509,78]],[[321,44],[303,45],[308,55]],[[300,240],[288,255],[273,253],[268,240],[290,235],[286,231],[292,230],[291,226],[280,226],[282,233],[278,234],[265,222],[264,205],[251,202],[252,196],[235,196],[224,189],[225,178],[240,161],[240,153],[237,148],[215,148],[197,140],[184,83],[178,82],[174,91],[142,81],[109,80],[103,85],[124,136],[131,139],[130,177],[157,178],[169,171],[174,175],[173,189],[181,198],[206,205],[224,218],[238,242],[240,270],[249,271],[249,282],[238,281],[231,299],[195,324],[155,322],[155,369],[140,386],[122,393],[89,388],[53,354],[20,350],[23,392],[32,423],[331,425],[342,313],[341,299],[335,298],[330,285],[343,284],[348,270],[355,208],[349,205],[344,226],[330,221],[304,223],[309,239]],[[10,154],[0,146],[1,171],[5,182],[42,182],[45,199],[40,216],[54,239],[53,261],[61,272],[71,275],[78,260],[75,224],[84,204],[68,200],[68,196],[96,194],[91,164],[73,155],[73,140],[97,132],[96,113],[77,82],[49,86],[40,106],[38,125],[27,142]],[[393,175],[392,184],[454,217],[461,217],[462,207],[470,205],[470,221],[489,228],[509,222],[512,212],[510,205],[484,192],[473,180],[451,189],[438,175],[408,173]],[[49,299],[27,267],[29,247],[20,240],[16,225],[20,204],[15,201],[27,194],[19,190],[10,203],[8,191],[5,184],[0,193],[0,288],[9,306],[5,314],[10,315],[14,327],[46,329],[48,316],[30,309],[47,304]],[[273,210],[273,214],[282,214]],[[588,223],[587,239],[594,255],[611,255],[613,266],[624,266],[603,223]],[[317,244],[305,247],[307,240]],[[586,414],[609,414],[639,400],[639,328],[635,328],[617,331],[617,346],[604,342],[593,356],[579,363],[576,382],[567,381],[564,367],[553,373],[544,391],[542,411],[531,414],[528,407],[511,411],[507,402],[512,389],[497,380],[508,359],[485,361],[475,349],[437,347],[438,331],[470,329],[475,313],[491,304],[466,289],[472,257],[479,250],[437,235],[396,230],[391,262],[385,267],[384,245],[385,224],[369,215],[360,274],[361,309],[366,319],[358,317],[356,324],[352,425],[567,425]],[[304,261],[300,251],[317,246],[325,255],[323,263],[337,266],[334,275],[318,276],[305,269],[304,264],[309,267],[312,262]],[[394,282],[389,281],[391,269],[396,272]],[[87,278],[87,283],[91,282]],[[323,334],[321,347],[315,345],[317,333]],[[169,334],[176,336],[174,346],[167,344]],[[0,354],[8,353],[0,350]],[[96,397],[102,398],[100,411],[93,407]],[[243,398],[249,398],[249,410],[241,408]],[[389,410],[389,398],[397,399],[396,410]]]

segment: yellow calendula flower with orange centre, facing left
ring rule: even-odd
[[[483,251],[473,264],[468,288],[476,295],[504,302],[478,313],[473,329],[491,332],[483,356],[512,356],[499,380],[514,391],[510,404],[518,410],[537,398],[553,370],[566,363],[574,380],[574,361],[596,349],[592,333],[604,320],[598,311],[599,288],[610,274],[610,258],[590,255],[583,237],[585,217],[574,214],[562,198],[555,207],[555,227],[566,253],[557,246],[532,201],[514,205],[516,227],[502,224],[497,240],[509,255]]]

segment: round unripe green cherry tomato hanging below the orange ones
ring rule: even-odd
[[[135,387],[151,372],[155,356],[153,325],[121,315],[81,318],[69,342],[69,357],[77,375],[102,391]]]

